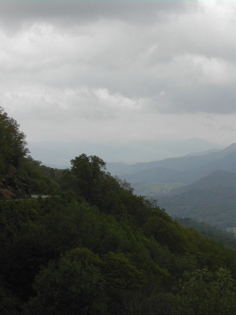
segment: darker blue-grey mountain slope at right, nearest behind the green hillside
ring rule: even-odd
[[[236,226],[236,173],[215,171],[158,199],[171,216],[205,221],[220,228]]]

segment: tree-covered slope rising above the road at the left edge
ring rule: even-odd
[[[55,194],[62,171],[41,165],[29,156],[26,135],[0,107],[0,199]]]

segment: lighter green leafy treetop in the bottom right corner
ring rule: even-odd
[[[173,314],[236,314],[236,282],[226,269],[214,274],[207,268],[185,273],[176,290]]]

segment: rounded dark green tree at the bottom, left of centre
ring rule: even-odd
[[[83,258],[67,253],[57,264],[51,260],[35,278],[37,294],[29,300],[26,314],[105,314],[103,279],[85,253]]]

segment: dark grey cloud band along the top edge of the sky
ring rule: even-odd
[[[188,1],[17,1],[0,2],[1,21],[5,26],[25,22],[47,21],[80,25],[100,19],[123,20],[129,23],[151,23],[163,19],[163,14],[185,11]],[[10,24],[11,22],[11,24]]]

